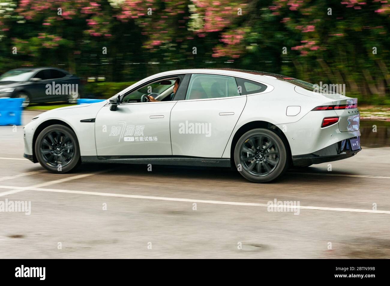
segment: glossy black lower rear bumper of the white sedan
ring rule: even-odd
[[[360,149],[352,150],[349,140],[356,138],[358,137],[351,137],[349,139],[341,140],[310,154],[293,156],[293,165],[307,166],[311,164],[332,162],[352,157],[362,150],[361,147]]]

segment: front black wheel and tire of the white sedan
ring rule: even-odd
[[[41,166],[56,174],[70,172],[81,163],[76,134],[64,125],[51,125],[42,130],[34,151]]]

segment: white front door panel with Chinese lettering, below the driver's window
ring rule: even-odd
[[[95,119],[98,156],[172,155],[169,115],[176,102],[105,105]]]

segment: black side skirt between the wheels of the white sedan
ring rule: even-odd
[[[199,167],[231,167],[230,158],[188,156],[81,156],[83,163],[156,164]]]

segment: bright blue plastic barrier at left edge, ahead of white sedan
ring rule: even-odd
[[[0,125],[21,125],[24,98],[0,98]]]

